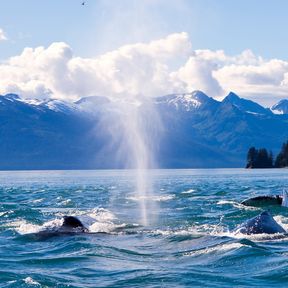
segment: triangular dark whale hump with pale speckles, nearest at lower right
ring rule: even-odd
[[[286,233],[284,228],[274,220],[268,211],[264,211],[256,217],[247,220],[235,232],[236,234],[242,233],[246,235]]]

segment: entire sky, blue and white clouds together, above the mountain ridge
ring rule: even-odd
[[[288,97],[288,1],[81,4],[0,0],[0,94]]]

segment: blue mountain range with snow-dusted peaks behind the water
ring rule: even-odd
[[[113,129],[111,132],[111,123],[120,121],[115,105],[103,96],[84,97],[74,103],[0,96],[0,169],[126,167],[129,149],[119,157],[118,145],[129,135],[118,131],[115,139]],[[148,107],[161,122],[161,129],[154,129],[157,133],[150,137],[151,141],[157,138],[159,168],[244,167],[249,147],[265,147],[275,155],[288,139],[285,99],[264,108],[233,92],[216,101],[194,91],[157,97],[152,104],[140,105],[147,118]],[[131,124],[129,118],[123,119]],[[115,131],[119,127],[115,125]]]

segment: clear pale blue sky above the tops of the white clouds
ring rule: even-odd
[[[0,57],[64,41],[81,56],[185,31],[194,49],[287,59],[288,1],[1,0]]]

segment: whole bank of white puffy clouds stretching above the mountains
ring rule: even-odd
[[[271,105],[287,97],[288,62],[266,60],[250,50],[234,56],[223,50],[193,50],[183,32],[94,58],[76,57],[68,44],[57,42],[25,48],[0,64],[0,93],[26,98],[153,97],[192,90],[215,98],[234,91]]]

